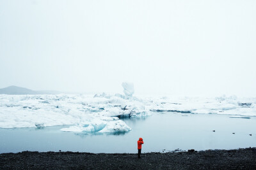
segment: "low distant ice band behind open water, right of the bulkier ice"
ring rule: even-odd
[[[243,102],[241,102],[243,101]],[[163,111],[189,114],[220,114],[256,116],[256,98],[238,98],[236,96],[204,97],[154,97],[145,104],[147,110],[160,113]]]

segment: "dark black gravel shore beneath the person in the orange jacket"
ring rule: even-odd
[[[0,154],[0,169],[256,169],[256,148],[201,152],[21,152]]]

